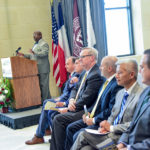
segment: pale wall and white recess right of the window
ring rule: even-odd
[[[134,46],[136,54],[150,48],[150,0],[132,0]]]

